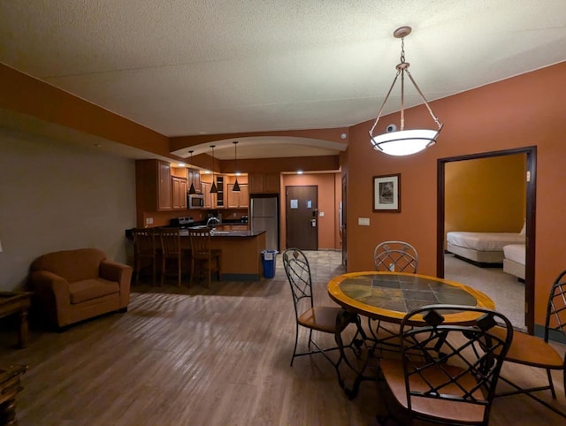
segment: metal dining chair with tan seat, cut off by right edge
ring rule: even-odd
[[[502,332],[502,331],[501,331]],[[543,339],[530,334],[516,332],[505,361],[522,364],[535,369],[547,371],[548,384],[546,386],[521,387],[509,377],[501,380],[511,385],[515,390],[498,392],[496,397],[525,394],[543,406],[566,418],[566,413],[540,399],[536,392],[550,391],[552,398],[556,399],[555,384],[552,380],[552,370],[562,371],[562,384],[566,385],[566,354],[562,357],[558,351],[548,343],[550,335],[555,338],[566,339],[566,270],[562,270],[550,289],[547,302],[547,317]]]

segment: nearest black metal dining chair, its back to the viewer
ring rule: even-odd
[[[477,316],[465,323],[452,322],[450,316],[463,312]],[[496,328],[501,332],[494,332]],[[513,339],[509,320],[485,308],[431,305],[404,316],[401,338],[401,359],[379,361],[384,392],[391,392],[397,403],[378,419],[380,424],[393,416],[398,424],[420,420],[487,425]],[[409,419],[401,419],[402,414]]]

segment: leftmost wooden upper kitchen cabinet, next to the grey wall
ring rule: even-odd
[[[161,160],[136,160],[135,196],[138,209],[172,210],[171,164]]]

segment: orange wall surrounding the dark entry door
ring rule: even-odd
[[[336,177],[338,175],[338,178]],[[282,175],[282,185],[285,186],[317,186],[318,187],[318,212],[324,212],[324,217],[318,217],[318,248],[320,249],[338,249],[340,248],[340,240],[338,236],[338,209],[337,200],[340,201],[340,173],[315,173],[303,175]],[[339,186],[336,188],[336,183]],[[340,191],[337,194],[337,189]],[[281,224],[280,246],[287,247],[287,226],[285,215],[285,193],[281,193],[280,198],[280,214]]]

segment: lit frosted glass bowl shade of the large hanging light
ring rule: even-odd
[[[371,144],[377,151],[389,156],[410,156],[428,148],[436,142],[440,130],[413,129],[383,133],[372,136]]]

